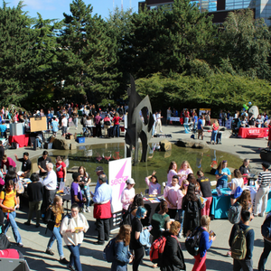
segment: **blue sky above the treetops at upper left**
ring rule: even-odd
[[[84,0],[86,5],[92,5],[92,14],[101,15],[102,18],[109,16],[109,11],[113,11],[113,1],[115,7],[121,8],[121,1],[123,1],[123,9],[130,7],[134,12],[138,9],[138,0]],[[6,1],[9,6],[16,6],[19,0]],[[42,19],[63,19],[63,13],[70,14],[70,3],[72,0],[24,0],[23,11],[28,11],[31,17],[37,17],[37,13],[42,14]]]

